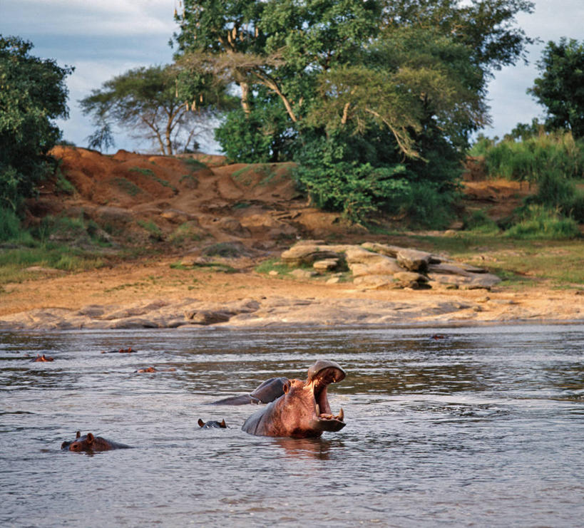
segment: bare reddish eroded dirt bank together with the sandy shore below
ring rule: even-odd
[[[290,164],[221,166],[225,160],[219,158],[203,164],[72,147],[57,147],[53,155],[73,191],[63,193],[58,179],[49,182],[29,203],[30,225],[47,215],[75,218],[81,224],[52,235],[56,242],[94,249],[98,240],[111,252],[132,245],[158,248],[163,257],[73,274],[33,269],[23,281],[2,286],[0,328],[584,320],[581,289],[551,289],[541,281],[516,291],[417,290],[359,286],[347,277],[334,283],[257,273],[257,264],[280,258],[299,239],[391,243],[339,214],[309,207],[294,188]],[[511,182],[468,182],[467,207],[503,217],[525,193]],[[237,248],[223,267],[205,261],[205,250],[217,244]]]

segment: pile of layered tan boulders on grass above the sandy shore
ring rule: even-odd
[[[312,264],[319,274],[335,271],[339,262],[346,262],[354,284],[369,288],[491,289],[501,281],[486,269],[419,249],[373,242],[361,245],[298,242],[283,252],[281,259],[290,266]],[[299,275],[294,274],[301,278]],[[307,276],[302,274],[302,278]]]

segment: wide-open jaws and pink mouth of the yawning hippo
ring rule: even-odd
[[[333,415],[327,387],[330,383],[337,383],[344,379],[345,373],[334,361],[317,361],[308,371],[308,381],[312,383],[312,393],[314,395],[314,417],[312,427],[322,431],[338,431],[344,428],[344,412],[339,410],[337,415]]]

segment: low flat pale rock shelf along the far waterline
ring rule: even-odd
[[[409,272],[406,272],[409,273]],[[36,309],[0,319],[0,328],[76,330],[103,328],[265,327],[282,325],[382,325],[476,318],[481,307],[456,299],[420,304],[414,299],[297,299],[273,296],[213,304],[197,299],[180,302],[140,301],[125,306],[86,306],[79,310]]]

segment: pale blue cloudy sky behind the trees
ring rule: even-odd
[[[78,100],[94,88],[131,68],[170,63],[169,41],[176,31],[173,19],[179,0],[0,0],[0,34],[20,36],[34,44],[31,54],[53,58],[59,66],[74,66],[68,77],[69,118],[58,120],[63,138],[80,147],[93,132]],[[495,72],[488,86],[492,126],[481,132],[502,137],[517,123],[531,123],[543,108],[526,89],[538,76],[536,61],[543,46],[560,37],[584,41],[584,0],[535,0],[533,14],[519,14],[518,26],[528,36],[541,38],[528,48],[529,64]],[[146,151],[148,143],[115,135],[118,148]],[[200,141],[202,150],[217,152],[211,139]]]

